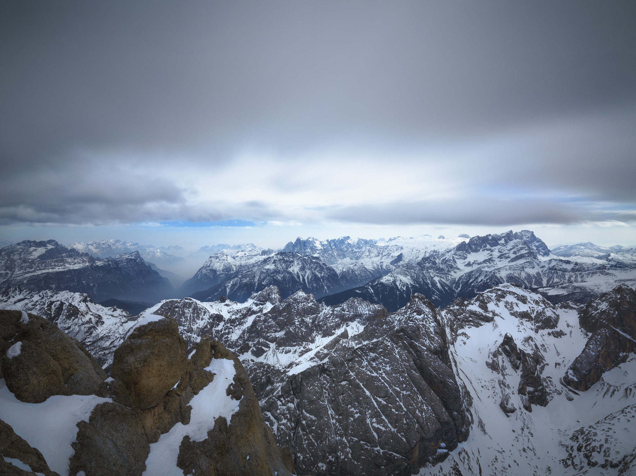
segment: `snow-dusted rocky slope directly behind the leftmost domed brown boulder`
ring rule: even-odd
[[[108,369],[113,352],[137,318],[116,307],[93,303],[88,294],[70,291],[31,291],[20,286],[0,290],[0,308],[27,311],[55,323],[78,339]]]

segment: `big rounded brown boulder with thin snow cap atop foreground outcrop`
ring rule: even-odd
[[[132,408],[155,407],[186,370],[186,341],[177,321],[160,318],[135,327],[114,353],[113,388]]]

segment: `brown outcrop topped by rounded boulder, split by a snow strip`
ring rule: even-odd
[[[200,414],[200,402],[195,404],[193,398],[214,382],[209,370],[213,358],[232,362],[235,374],[220,383],[227,388],[221,387],[221,395],[237,402],[237,411],[229,419],[212,419],[216,402],[207,402],[211,413],[192,421],[193,414]],[[188,360],[176,320],[141,323],[115,351],[113,377],[111,389],[118,403],[97,405],[89,421],[78,424],[71,473],[141,475],[148,469],[151,446],[160,444],[162,435],[172,434],[176,425],[186,433],[188,425],[195,430],[209,425],[205,439],[186,434],[176,441],[173,463],[185,474],[289,474],[245,369],[218,341],[200,339]]]

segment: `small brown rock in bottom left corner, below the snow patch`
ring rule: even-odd
[[[60,476],[51,471],[46,464],[46,459],[38,449],[32,448],[25,440],[15,434],[11,425],[0,420],[0,473],[3,475],[29,474],[4,461],[3,457],[18,459],[24,465],[29,466],[34,473],[42,473],[45,476]]]

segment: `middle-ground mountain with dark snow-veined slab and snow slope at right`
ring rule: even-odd
[[[209,334],[239,356],[296,473],[636,470],[636,292],[626,286],[586,306],[512,284],[445,309],[414,294],[391,314],[268,287],[245,303],[170,299],[139,318],[149,315],[176,318],[189,346]]]

